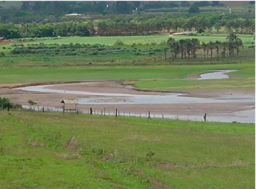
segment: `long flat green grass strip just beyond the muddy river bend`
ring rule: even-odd
[[[148,65],[145,66],[60,66],[60,67],[2,67],[1,83],[30,83],[85,80],[182,79],[199,75],[209,69],[242,69],[246,77],[254,77],[254,63],[217,65]],[[243,73],[243,72],[242,72]],[[235,74],[235,73],[234,73]],[[242,74],[243,75],[243,74]],[[229,80],[230,81],[230,80]],[[162,82],[162,81],[161,81]],[[170,81],[171,82],[171,81]],[[182,81],[185,82],[185,81]],[[143,82],[144,83],[144,82]],[[148,85],[154,86],[155,81]],[[143,88],[143,87],[142,87]]]

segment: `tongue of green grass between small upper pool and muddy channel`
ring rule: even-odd
[[[244,63],[237,65],[218,65],[218,69],[238,69],[236,72],[230,72],[230,79],[222,80],[147,80],[147,81],[130,81],[125,82],[126,84],[135,84],[138,89],[148,90],[162,90],[162,91],[190,91],[195,90],[198,87],[203,90],[210,89],[253,89],[255,88],[255,64]],[[206,67],[206,66],[205,66]],[[214,69],[217,65],[207,66],[209,70]],[[201,67],[202,68],[202,67]],[[204,70],[205,71],[205,70]],[[207,72],[207,71],[206,71]],[[197,75],[194,73],[193,75]]]

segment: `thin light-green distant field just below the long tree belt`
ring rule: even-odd
[[[148,36],[92,36],[92,37],[63,37],[63,39],[57,40],[38,40],[29,43],[59,43],[59,44],[69,44],[69,43],[85,43],[85,44],[105,44],[113,45],[117,40],[122,41],[125,44],[132,43],[151,43],[151,42],[163,42],[167,41],[169,37],[174,39],[191,39],[197,38],[200,41],[226,41],[225,36],[174,36],[174,35],[148,35]],[[241,37],[243,42],[253,42],[252,37]]]

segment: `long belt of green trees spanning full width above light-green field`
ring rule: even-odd
[[[47,24],[0,24],[0,35],[6,39],[23,37],[89,36],[99,35],[141,35],[169,31],[219,31],[225,27],[228,32],[252,33],[255,18],[233,17],[231,15],[198,15],[190,18],[130,17],[83,22],[60,22]]]

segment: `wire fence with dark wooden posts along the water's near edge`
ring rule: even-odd
[[[56,108],[56,107],[49,107],[49,106],[29,106],[29,105],[22,105],[22,109],[29,110],[29,111],[49,111],[49,112],[63,112],[62,108]],[[17,111],[22,111],[22,109],[15,109]],[[176,120],[187,120],[187,121],[206,121],[206,114],[201,116],[189,116],[189,115],[167,115],[167,114],[155,114],[155,112],[152,112],[150,110],[147,111],[120,111],[119,109],[115,108],[113,110],[106,110],[100,109],[96,110],[92,107],[88,108],[88,110],[85,109],[76,109],[76,111],[72,110],[65,110],[65,112],[74,112],[75,114],[89,114],[89,115],[101,115],[101,116],[123,116],[123,117],[140,117],[140,118],[166,118],[166,119],[176,119]],[[203,119],[202,119],[203,118]]]

